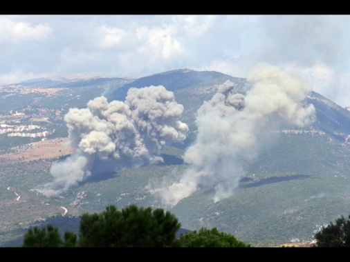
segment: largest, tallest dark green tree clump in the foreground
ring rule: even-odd
[[[180,228],[176,216],[161,208],[129,205],[121,211],[114,205],[101,213],[82,215],[79,229],[81,247],[170,247]]]

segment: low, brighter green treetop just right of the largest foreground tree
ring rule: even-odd
[[[232,234],[219,232],[217,228],[201,228],[199,232],[181,234],[178,242],[183,248],[250,248],[249,244],[237,240]]]

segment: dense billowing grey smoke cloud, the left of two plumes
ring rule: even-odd
[[[92,170],[102,173],[163,161],[163,147],[186,138],[187,125],[177,120],[182,113],[183,105],[162,85],[130,88],[124,102],[97,97],[87,108],[71,108],[64,121],[76,152],[53,163],[54,181],[39,191],[59,194],[84,181]]]

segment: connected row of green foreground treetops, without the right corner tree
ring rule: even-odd
[[[181,234],[176,232],[181,223],[174,214],[161,208],[142,208],[129,205],[117,210],[109,205],[100,213],[81,216],[79,239],[73,232],[66,231],[61,239],[58,228],[53,225],[39,229],[30,228],[24,234],[24,247],[104,247],[104,248],[245,248],[250,247],[238,241],[233,235],[219,232],[217,228],[202,228],[199,232]]]

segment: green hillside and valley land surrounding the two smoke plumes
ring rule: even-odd
[[[313,123],[302,128],[293,123],[270,125],[268,132],[257,125],[254,131],[259,147],[251,150],[254,157],[243,161],[239,170],[228,172],[233,177],[242,172],[232,195],[213,201],[215,190],[205,186],[210,181],[203,180],[199,190],[169,207],[146,185],[181,177],[187,170],[183,156],[201,134],[197,110],[219,92],[218,85],[225,81],[235,84],[232,92],[246,95],[246,79],[188,69],[140,79],[66,79],[33,79],[0,87],[0,208],[6,210],[0,219],[1,246],[20,243],[28,227],[38,221],[58,221],[52,217],[64,214],[62,207],[68,210],[67,218],[100,212],[108,204],[118,208],[131,203],[165,207],[178,217],[182,228],[216,227],[255,246],[311,241],[322,225],[349,213],[350,112],[321,94],[310,92],[302,101],[303,106],[315,108]],[[183,105],[179,120],[189,128],[185,141],[163,148],[163,163],[92,174],[56,197],[35,190],[53,181],[52,163],[64,161],[73,152],[62,144],[68,137],[64,115],[70,108],[86,108],[86,103],[102,95],[109,102],[125,101],[130,88],[151,85],[163,85],[174,93],[176,102]],[[15,133],[11,128],[17,127],[22,128],[17,133],[26,133],[27,137],[8,136]],[[35,137],[38,131],[47,132],[46,136]],[[219,138],[220,133],[216,135]],[[217,151],[213,148],[213,157],[224,157],[225,146],[222,143],[222,150]]]

